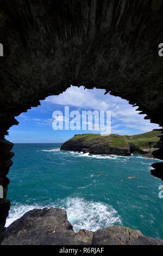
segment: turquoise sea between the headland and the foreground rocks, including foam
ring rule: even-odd
[[[7,225],[35,207],[57,206],[67,210],[75,231],[118,224],[163,239],[163,199],[158,197],[162,182],[150,172],[158,160],[90,157],[59,151],[60,146],[14,146]]]

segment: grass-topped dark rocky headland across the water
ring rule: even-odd
[[[110,134],[79,134],[66,141],[61,150],[89,152],[90,154],[115,154],[117,156],[131,156],[141,153],[145,157],[154,158],[153,152],[159,149],[159,130],[139,135]]]

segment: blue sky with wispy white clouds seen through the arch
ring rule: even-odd
[[[120,97],[104,95],[105,90],[84,90],[84,87],[71,86],[66,92],[59,96],[50,96],[41,101],[41,106],[32,108],[26,113],[16,117],[20,122],[9,130],[6,139],[14,143],[62,143],[72,138],[75,134],[100,133],[101,130],[54,130],[52,127],[54,111],[61,111],[57,120],[59,126],[64,120],[65,106],[71,111],[79,111],[82,118],[82,111],[111,111],[111,133],[120,135],[133,135],[149,132],[158,129],[158,124],[144,120],[146,115],[139,115],[137,107],[129,105],[127,100]],[[60,112],[58,112],[60,113]],[[73,118],[70,118],[70,121]],[[82,119],[81,119],[82,120]],[[88,121],[87,121],[88,122]],[[95,120],[93,120],[95,124]],[[106,122],[105,122],[106,124]],[[94,127],[94,126],[93,126]]]

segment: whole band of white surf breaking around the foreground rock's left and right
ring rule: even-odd
[[[96,231],[99,228],[121,225],[121,218],[117,211],[110,205],[100,202],[86,201],[83,198],[67,198],[59,200],[55,205],[44,207],[60,207],[67,211],[68,221],[73,225],[75,232],[80,229]],[[16,219],[21,218],[24,213],[33,209],[42,209],[42,205],[16,204],[11,207],[6,227]]]

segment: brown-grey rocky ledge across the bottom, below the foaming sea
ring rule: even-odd
[[[27,212],[6,230],[2,245],[163,245],[139,230],[119,226],[74,233],[62,209]]]

